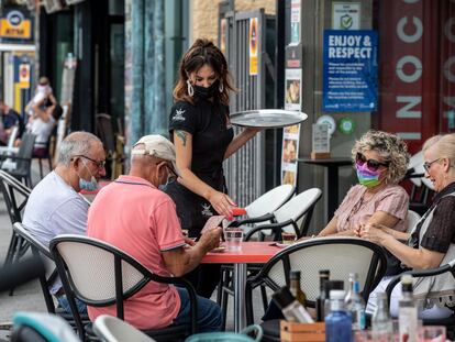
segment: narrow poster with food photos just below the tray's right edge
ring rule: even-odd
[[[281,184],[297,184],[300,124],[282,129]]]

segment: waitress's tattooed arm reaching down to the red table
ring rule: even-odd
[[[173,134],[174,145],[176,146],[177,167],[180,172],[178,183],[190,191],[207,199],[219,214],[232,218],[231,208],[235,206],[234,201],[228,195],[217,191],[207,183],[202,181],[191,170],[192,134],[181,130],[175,130]]]

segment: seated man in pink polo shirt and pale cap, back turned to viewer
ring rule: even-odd
[[[182,276],[199,265],[220,242],[221,228],[204,233],[198,243],[184,238],[174,201],[158,190],[177,177],[174,145],[160,135],[143,136],[133,147],[131,170],[102,188],[88,216],[87,235],[106,241],[135,257],[162,276]],[[190,243],[191,246],[186,246]],[[158,329],[189,323],[186,289],[148,283],[125,300],[125,321],[138,329]],[[88,307],[98,316],[115,316],[115,307]],[[220,307],[198,297],[199,331],[219,331]]]

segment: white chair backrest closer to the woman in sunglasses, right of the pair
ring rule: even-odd
[[[311,188],[311,189],[304,190],[303,192],[291,198],[289,201],[282,205],[279,209],[277,209],[274,212],[275,220],[277,222],[286,222],[288,220],[292,220],[292,222],[297,224],[297,222],[300,219],[302,219],[303,216],[307,216],[306,222],[302,224],[303,227],[299,228],[300,231],[297,234],[298,236],[303,236],[308,231],[308,227],[310,224],[309,219],[311,219],[314,206],[318,202],[318,200],[321,198],[321,196],[322,196],[321,189]],[[282,228],[282,231],[292,232],[292,233],[296,232],[295,227],[292,224],[289,224]]]

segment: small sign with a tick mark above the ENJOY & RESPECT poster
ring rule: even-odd
[[[359,2],[333,2],[332,3],[333,30],[359,30],[360,3]]]

